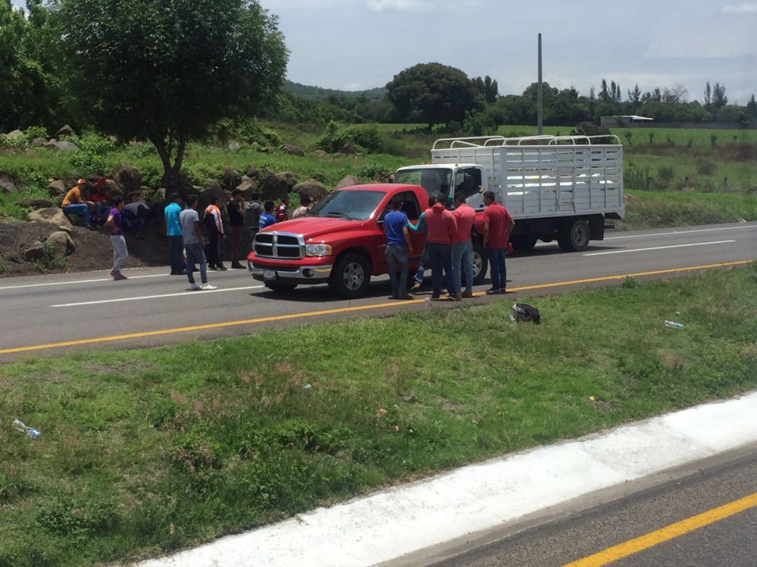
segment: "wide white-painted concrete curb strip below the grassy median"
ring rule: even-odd
[[[757,442],[757,392],[410,485],[139,567],[369,567]]]

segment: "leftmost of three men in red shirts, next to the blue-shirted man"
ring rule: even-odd
[[[426,209],[423,217],[428,229],[426,246],[431,260],[431,281],[433,282],[431,299],[439,299],[441,296],[442,270],[447,279],[449,299],[456,299],[452,275],[452,243],[457,233],[457,222],[455,216],[444,208],[444,203],[447,203],[447,195],[438,194],[435,197],[434,206]]]

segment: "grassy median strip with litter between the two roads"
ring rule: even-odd
[[[757,386],[757,265],[531,302],[6,364],[0,565],[140,559]]]

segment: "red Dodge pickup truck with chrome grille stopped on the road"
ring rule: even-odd
[[[384,256],[383,219],[392,198],[403,200],[402,210],[414,224],[428,207],[423,187],[407,184],[366,184],[344,187],[319,201],[302,218],[264,228],[257,233],[248,256],[252,277],[276,291],[301,284],[328,283],[338,295],[355,298],[368,293],[371,276],[388,273]],[[476,224],[481,232],[481,215]],[[418,268],[424,235],[410,232],[413,254],[410,274]],[[481,240],[474,239],[474,281],[487,271]]]

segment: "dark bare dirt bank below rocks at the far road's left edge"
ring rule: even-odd
[[[58,227],[48,222],[0,222],[0,277],[23,276],[61,271],[103,270],[113,265],[113,247],[107,228],[90,231],[70,228],[76,250],[52,261],[25,259],[30,248],[42,246]],[[162,227],[150,227],[145,240],[126,234],[129,259],[126,268],[167,265],[168,243]]]

